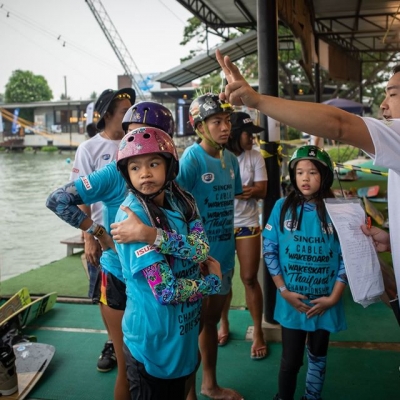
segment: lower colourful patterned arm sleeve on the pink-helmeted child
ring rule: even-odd
[[[157,262],[142,271],[154,294],[162,305],[195,302],[221,290],[221,280],[210,274],[200,279],[176,279],[165,261]]]

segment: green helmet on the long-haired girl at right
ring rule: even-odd
[[[290,182],[297,189],[295,167],[300,160],[314,160],[321,163],[326,170],[326,174],[321,180],[321,189],[329,189],[333,183],[333,163],[329,154],[317,146],[302,146],[299,147],[292,155],[289,161],[289,176]]]

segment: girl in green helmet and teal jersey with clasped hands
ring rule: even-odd
[[[333,164],[316,146],[298,148],[289,162],[294,190],[276,202],[264,228],[265,264],[278,288],[274,318],[282,327],[278,394],[293,400],[307,344],[302,400],[320,400],[331,332],[347,328],[347,284],[339,239],[324,199],[334,197]]]

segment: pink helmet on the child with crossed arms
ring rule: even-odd
[[[128,159],[154,153],[162,154],[168,162],[165,187],[175,179],[179,172],[178,153],[171,137],[161,129],[143,127],[127,133],[121,140],[117,155],[117,167],[131,189],[134,188],[127,171]]]

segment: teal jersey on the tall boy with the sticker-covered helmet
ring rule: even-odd
[[[224,150],[225,168],[197,143],[179,160],[177,182],[196,199],[210,243],[210,255],[221,264],[222,273],[235,266],[234,199],[242,193],[239,163]]]

